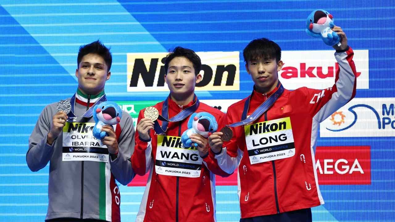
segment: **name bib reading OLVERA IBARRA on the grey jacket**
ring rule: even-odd
[[[63,127],[63,161],[108,162],[107,146],[92,135],[94,125],[94,122],[66,122]]]

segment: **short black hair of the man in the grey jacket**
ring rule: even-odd
[[[105,47],[103,43],[99,40],[89,43],[87,45],[81,45],[79,47],[78,56],[77,56],[77,66],[81,62],[82,58],[89,53],[96,54],[102,56],[105,64],[108,67],[107,71],[111,69],[111,63],[113,62],[113,57],[111,56],[110,49]]]

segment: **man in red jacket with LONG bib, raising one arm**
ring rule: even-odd
[[[254,90],[228,108],[230,141],[223,143],[221,132],[209,137],[220,175],[238,168],[241,222],[312,221],[310,207],[324,204],[314,159],[318,126],[355,96],[356,86],[354,53],[341,28],[332,29],[342,38],[333,46],[339,70],[335,85],[324,90],[284,89],[281,49],[273,41],[253,40],[243,51]]]

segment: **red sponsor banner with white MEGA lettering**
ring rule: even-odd
[[[316,148],[318,183],[323,185],[371,184],[370,146]],[[300,157],[303,160],[303,157]]]

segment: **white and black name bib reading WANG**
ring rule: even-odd
[[[202,161],[197,148],[182,148],[181,137],[158,135],[155,161],[157,174],[200,177]]]

